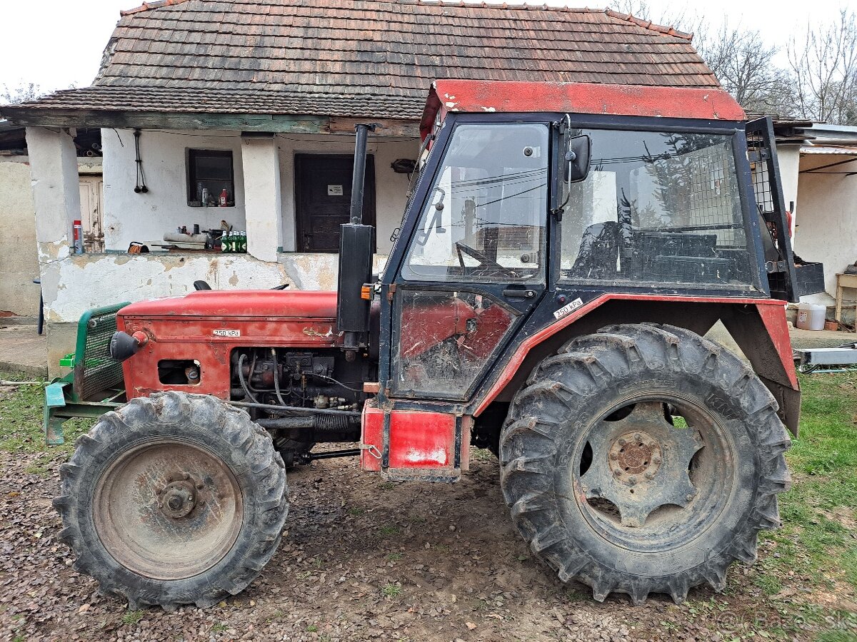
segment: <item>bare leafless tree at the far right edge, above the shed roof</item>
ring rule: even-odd
[[[794,99],[817,122],[857,124],[857,19],[842,9],[838,21],[806,27],[800,45],[789,44]]]

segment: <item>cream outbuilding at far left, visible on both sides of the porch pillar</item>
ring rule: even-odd
[[[101,213],[101,152],[99,129],[81,131],[75,139],[81,211],[76,218],[87,220],[94,230],[87,240],[91,251],[99,250],[98,222]],[[35,205],[30,182],[25,128],[0,121],[0,317],[28,320],[39,315],[39,256],[36,252]]]

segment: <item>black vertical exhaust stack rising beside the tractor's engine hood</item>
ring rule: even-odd
[[[363,187],[366,178],[366,139],[375,125],[359,124],[354,146],[354,175],[351,179],[351,222],[340,226],[339,284],[336,325],[344,333],[346,350],[365,348],[369,339],[369,305],[363,285],[372,280],[375,228],[363,225]]]

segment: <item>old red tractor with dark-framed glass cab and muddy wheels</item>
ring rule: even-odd
[[[358,125],[337,292],[118,312],[127,402],[55,501],[77,568],[132,608],[205,607],[273,556],[288,467],[351,455],[452,482],[474,444],[561,580],[635,604],[722,590],[779,523],[800,405],[785,306],[812,289],[770,120],[745,118],[711,89],[439,80],[380,277]],[[718,321],[749,363],[704,338]]]

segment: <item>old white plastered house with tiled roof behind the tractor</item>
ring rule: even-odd
[[[0,110],[27,126],[51,372],[95,306],[183,294],[197,279],[335,288],[357,122],[378,125],[364,217],[381,269],[440,78],[719,86],[688,34],[609,10],[162,0],[125,11],[93,86]],[[71,243],[79,128],[100,128],[104,152],[105,247],[83,255]],[[177,230],[197,224],[246,230],[247,253],[174,242],[193,241]],[[150,252],[129,253],[135,243]]]

